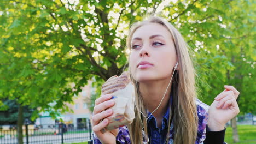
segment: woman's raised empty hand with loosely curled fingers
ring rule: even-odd
[[[224,86],[225,90],[217,95],[208,111],[208,128],[211,131],[223,130],[225,124],[240,111],[236,99],[239,92],[233,86]]]

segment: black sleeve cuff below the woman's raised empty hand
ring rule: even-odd
[[[208,125],[206,125],[206,138],[205,141],[203,141],[204,144],[223,144],[225,139],[225,131],[210,131],[208,128]]]

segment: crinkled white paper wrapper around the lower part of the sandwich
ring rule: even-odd
[[[132,83],[130,82],[124,89],[120,89],[112,95],[115,105],[110,108],[113,109],[113,115],[107,117],[109,120],[109,124],[106,127],[107,130],[113,130],[131,124],[135,118],[135,91]]]

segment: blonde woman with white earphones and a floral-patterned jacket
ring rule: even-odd
[[[188,47],[171,23],[152,16],[132,25],[127,37],[129,71],[135,83],[132,124],[101,132],[112,115],[112,95],[95,101],[94,143],[221,143],[225,124],[239,113],[232,86],[211,106],[196,98],[195,74]],[[106,111],[104,111],[106,110]],[[104,119],[104,121],[101,121]]]

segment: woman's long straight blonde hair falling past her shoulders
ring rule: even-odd
[[[150,16],[147,20],[137,22],[130,28],[127,36],[127,47],[131,48],[131,38],[133,33],[144,25],[149,23],[159,23],[166,27],[172,35],[172,40],[175,45],[176,55],[178,57],[179,70],[175,71],[172,87],[173,87],[173,105],[170,106],[170,115],[168,120],[168,133],[166,142],[169,141],[171,117],[173,117],[174,126],[174,143],[195,143],[198,125],[198,116],[196,109],[196,90],[195,90],[195,70],[190,59],[188,46],[185,43],[182,35],[178,32],[170,22],[165,21],[158,16]],[[129,68],[130,70],[130,68]],[[131,73],[130,73],[131,74]],[[132,82],[135,83],[136,106],[135,119],[132,124],[128,125],[131,143],[142,143],[143,139],[148,139],[147,122],[141,112],[147,116],[147,112],[139,93],[139,83],[131,76]],[[142,129],[146,137],[143,137]]]

